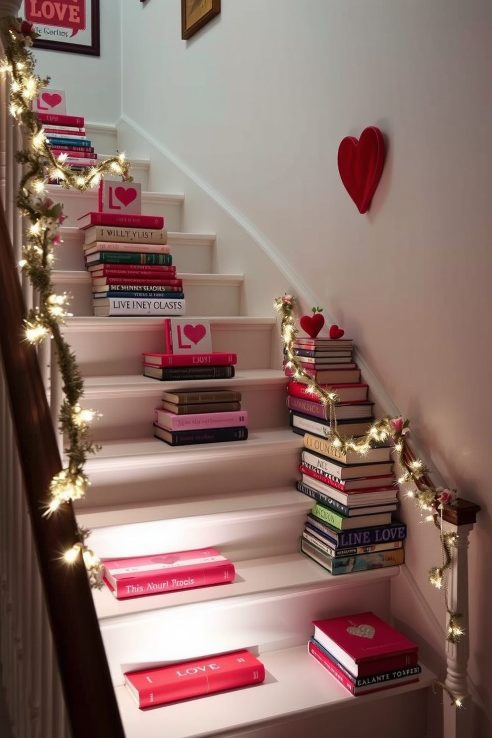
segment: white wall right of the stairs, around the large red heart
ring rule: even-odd
[[[482,505],[470,666],[490,715],[492,6],[224,0],[188,42],[179,6],[123,4],[122,112],[254,224],[355,339],[446,482]],[[336,152],[367,125],[389,145],[359,215]],[[432,531],[406,518],[442,620],[425,581]],[[474,736],[490,734],[479,721]]]

